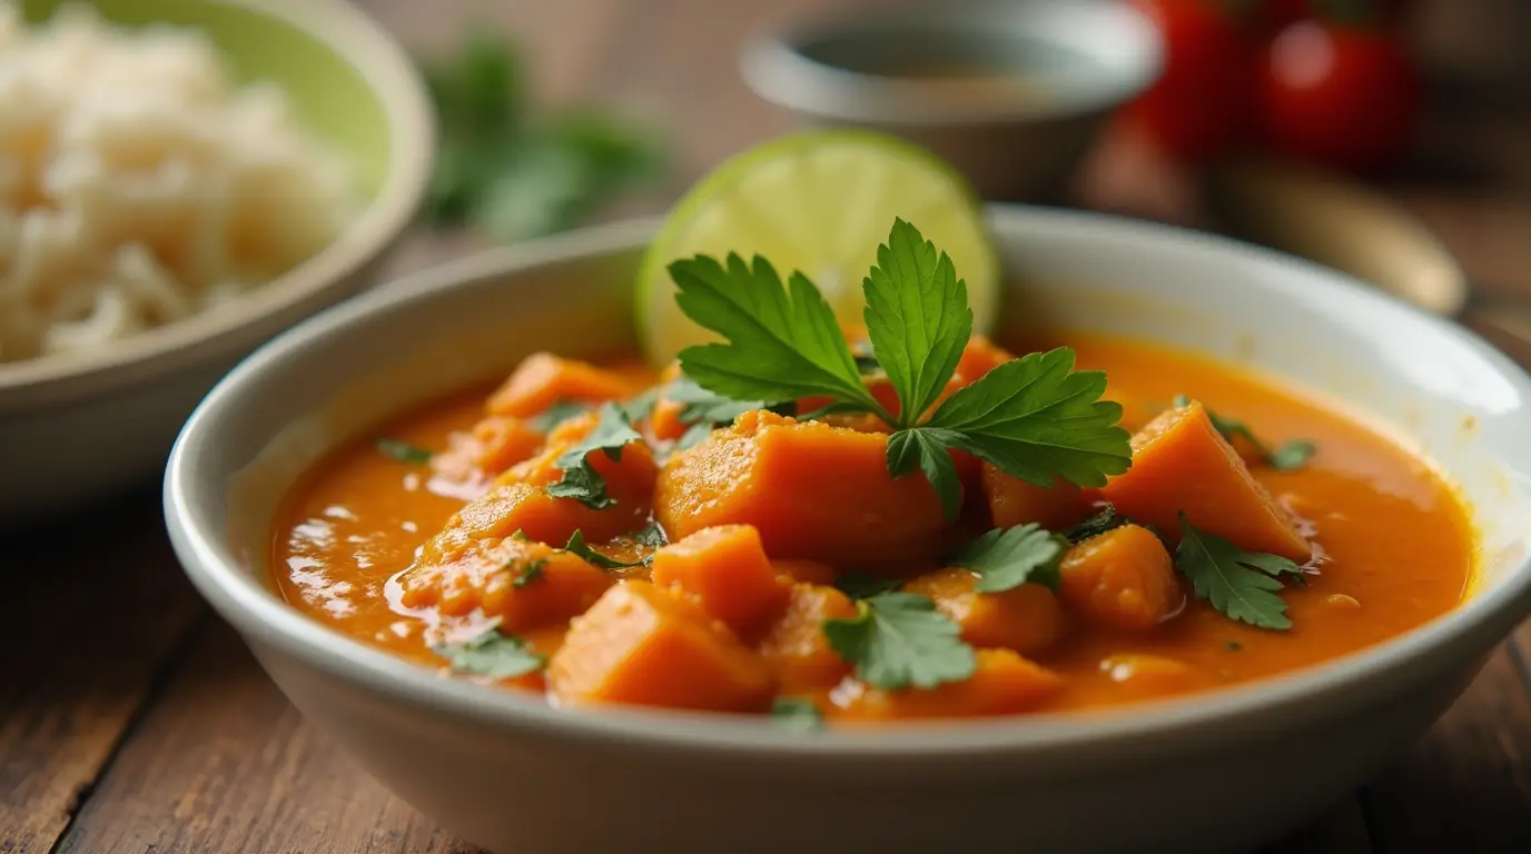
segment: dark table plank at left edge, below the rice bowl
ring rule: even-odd
[[[0,851],[46,851],[205,609],[156,493],[0,534]]]

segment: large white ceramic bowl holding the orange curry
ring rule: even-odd
[[[1340,274],[1092,214],[992,208],[1006,323],[1145,335],[1320,390],[1418,445],[1482,530],[1470,601],[1323,667],[1102,715],[798,735],[547,707],[438,678],[283,605],[273,511],[378,419],[537,347],[631,340],[652,223],[493,253],[331,309],[236,369],[165,481],[176,552],[292,702],[384,785],[498,851],[1216,851],[1292,828],[1450,706],[1531,611],[1531,378]]]

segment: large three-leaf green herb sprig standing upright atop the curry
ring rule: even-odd
[[[1067,347],[1001,364],[942,399],[972,337],[968,288],[951,257],[902,219],[862,288],[870,354],[851,352],[834,312],[801,272],[782,285],[770,262],[736,254],[726,263],[697,256],[669,269],[681,311],[726,341],[681,350],[687,376],[738,401],[827,396],[834,401],[827,410],[876,415],[894,429],[888,471],[919,470],[948,517],[961,505],[952,450],[1040,487],[1055,478],[1099,487],[1131,464],[1118,425],[1122,409],[1099,399],[1105,373],[1075,370]],[[868,392],[868,361],[886,373],[897,412]]]

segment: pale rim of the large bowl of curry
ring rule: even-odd
[[[1245,256],[1262,265],[1280,263],[1297,274],[1288,275],[1292,288],[1306,292],[1350,291],[1369,303],[1370,311],[1410,323],[1415,329],[1445,337],[1465,347],[1473,358],[1531,399],[1531,376],[1473,332],[1424,309],[1376,291],[1338,271],[1304,262],[1272,249],[1177,227],[1128,220],[1124,217],[989,205],[991,223],[1009,223],[1036,239],[1078,237],[1093,233],[1096,240],[1113,245],[1173,240],[1185,251],[1203,257]],[[507,732],[537,732],[542,739],[605,745],[623,750],[690,750],[732,759],[911,759],[935,756],[983,756],[1009,751],[1050,751],[1108,745],[1112,750],[1185,741],[1205,741],[1208,727],[1258,725],[1280,715],[1283,719],[1324,715],[1324,698],[1356,690],[1386,690],[1396,673],[1410,666],[1454,650],[1462,657],[1487,652],[1531,611],[1531,554],[1522,556],[1507,580],[1485,589],[1456,609],[1402,635],[1353,654],[1291,673],[1255,680],[1242,686],[1144,702],[1130,712],[1112,715],[1046,713],[949,722],[905,722],[871,727],[867,732],[793,733],[759,721],[730,719],[726,715],[687,713],[611,707],[599,712],[554,709],[502,687],[449,680],[435,670],[409,663],[381,649],[311,620],[282,601],[254,574],[225,560],[216,531],[199,525],[191,505],[196,484],[205,481],[204,458],[216,453],[219,422],[231,419],[240,407],[246,386],[259,384],[269,363],[302,350],[318,340],[344,334],[355,321],[375,314],[407,311],[441,294],[473,286],[485,277],[536,271],[571,260],[615,251],[634,251],[657,233],[658,220],[632,220],[547,237],[513,248],[499,248],[441,266],[410,274],[364,298],[331,308],[260,347],[233,370],[191,415],[170,455],[164,482],[164,510],[175,551],[187,575],[202,595],[245,635],[320,670],[326,678],[357,686],[404,704],[429,709],[439,721],[458,719]],[[1531,413],[1528,413],[1531,415]],[[1482,647],[1482,649],[1479,649]],[[1318,701],[1318,702],[1315,702]],[[439,722],[438,721],[438,722]]]

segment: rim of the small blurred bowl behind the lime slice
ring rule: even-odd
[[[997,26],[995,17],[1015,14],[1026,6],[1049,6],[1058,14],[1075,17],[1098,15],[1125,28],[1134,37],[1125,49],[1098,43],[1090,52],[1096,57],[1115,52],[1127,60],[1127,70],[1113,72],[1110,80],[1069,92],[1063,98],[1030,98],[1023,96],[1014,84],[885,77],[831,66],[802,52],[808,41],[828,37],[874,40],[909,26],[958,37],[978,26],[987,34],[1004,32],[1003,26]],[[1085,40],[1095,35],[1090,28],[1078,29]],[[1164,67],[1164,44],[1148,17],[1125,3],[1027,0],[1001,6],[969,0],[957,8],[929,5],[885,11],[876,18],[841,14],[759,34],[746,43],[738,66],[744,83],[756,95],[805,116],[885,125],[966,127],[1067,119],[1104,112],[1153,84]]]

